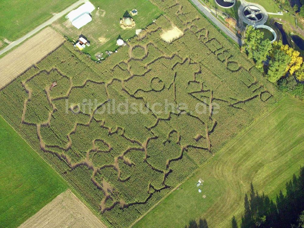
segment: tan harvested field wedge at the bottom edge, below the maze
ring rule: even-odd
[[[68,189],[19,226],[19,228],[30,227],[106,228],[107,226]]]

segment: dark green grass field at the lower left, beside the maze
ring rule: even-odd
[[[0,139],[0,224],[16,227],[67,185],[2,117]]]

